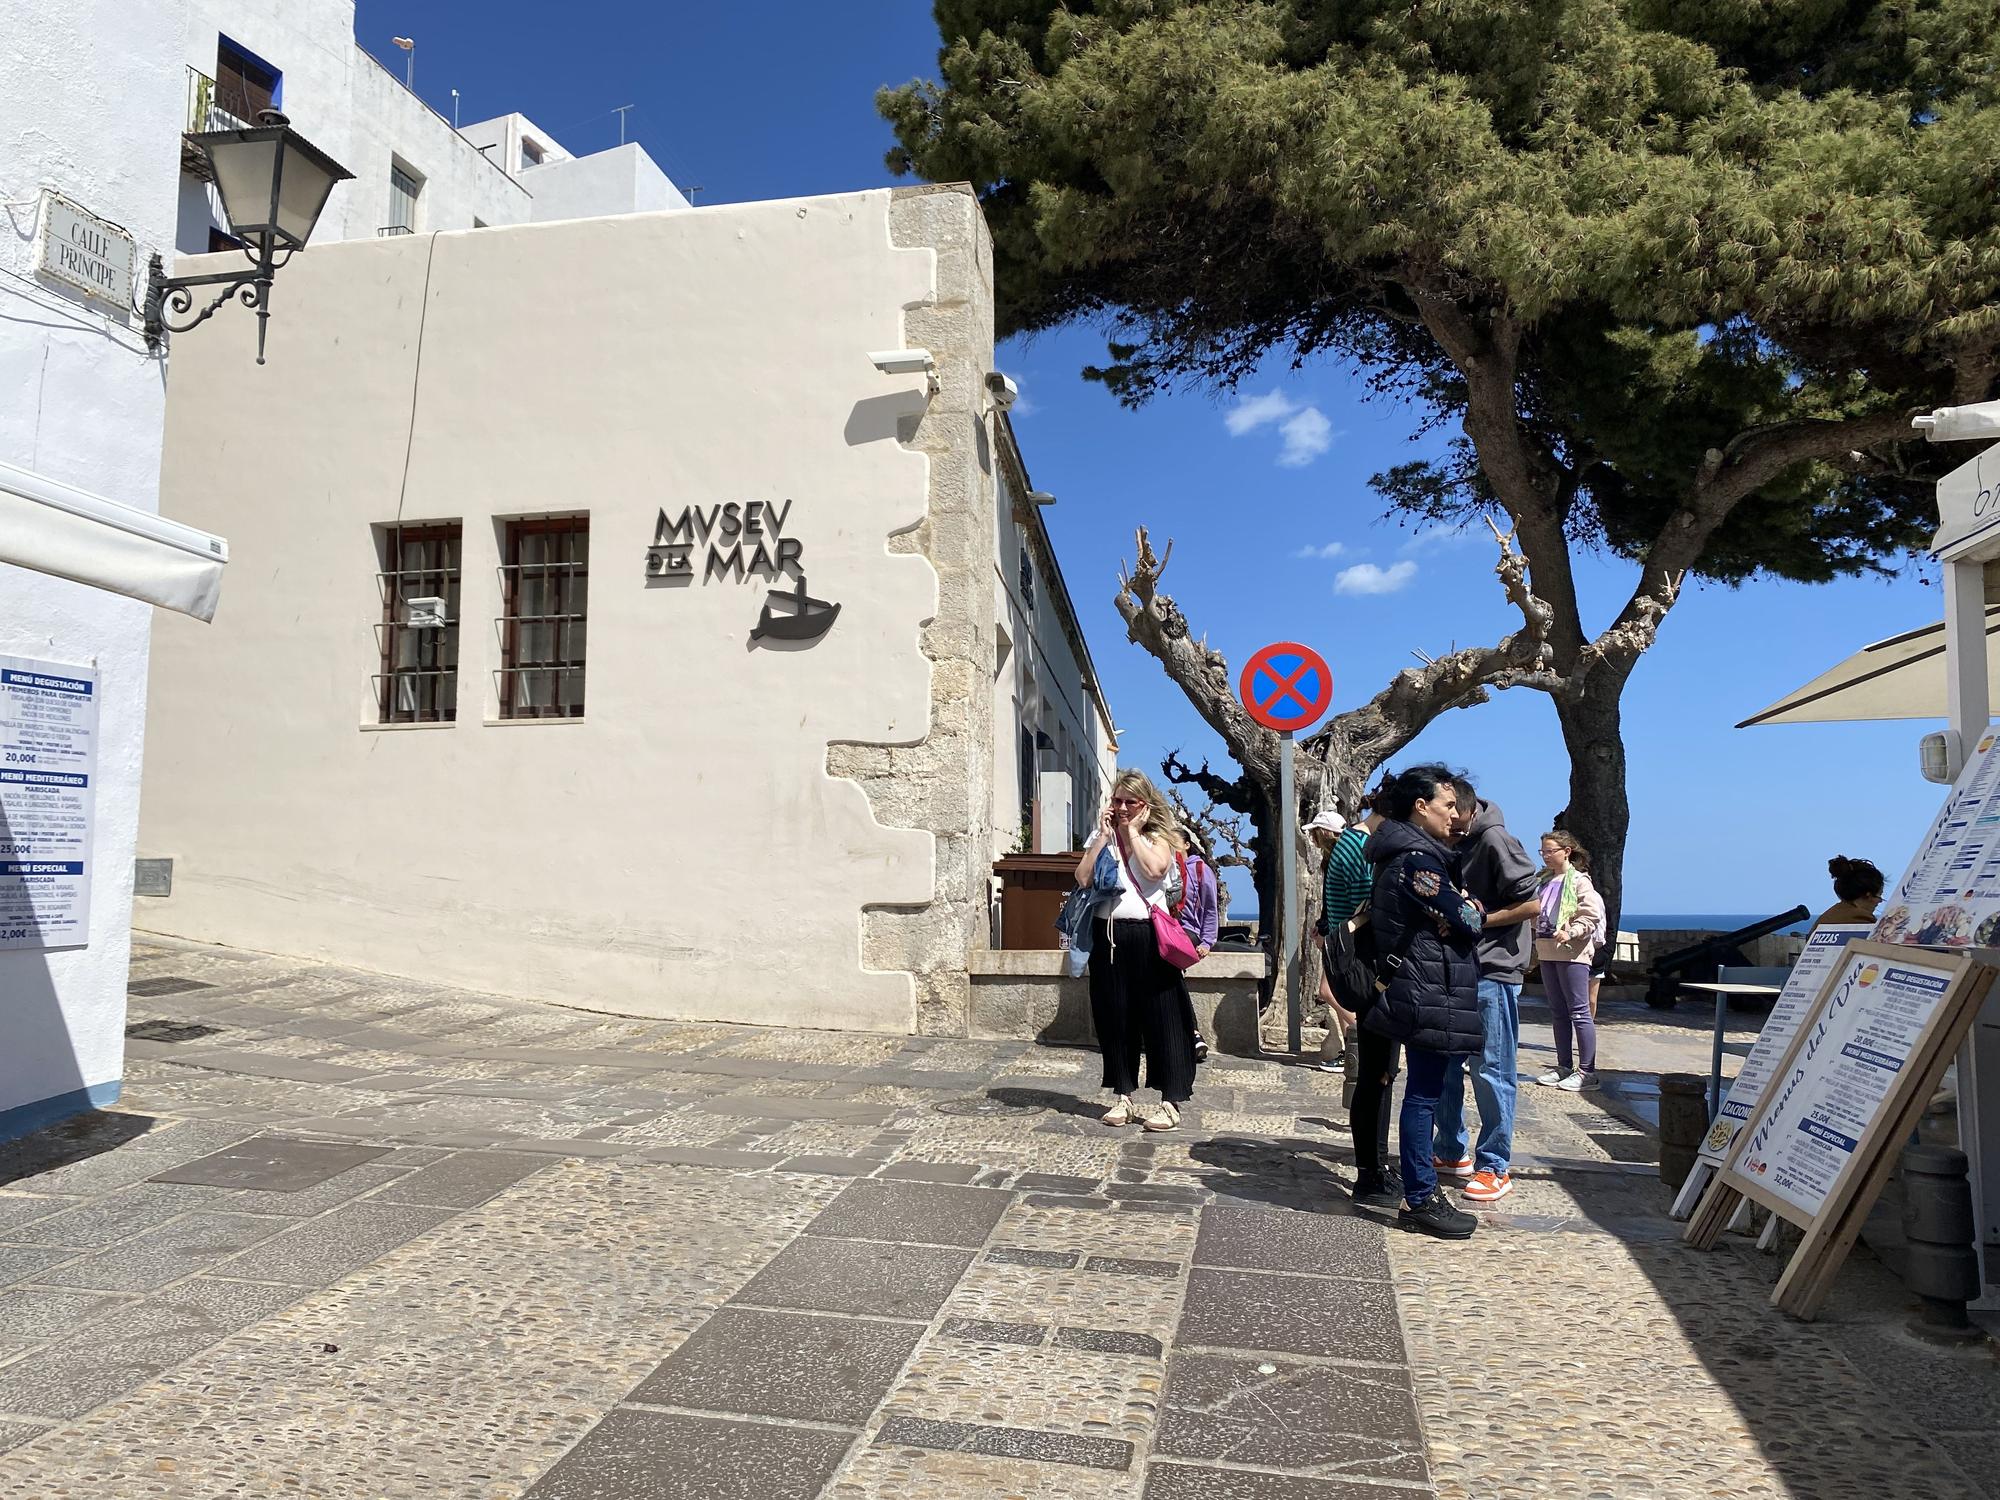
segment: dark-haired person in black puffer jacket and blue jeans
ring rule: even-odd
[[[1432,1132],[1446,1058],[1478,1056],[1480,1022],[1478,938],[1486,926],[1480,904],[1456,882],[1450,844],[1458,792],[1444,766],[1398,772],[1376,802],[1384,824],[1362,850],[1374,866],[1368,922],[1382,978],[1388,982],[1362,1026],[1404,1044],[1402,1154],[1408,1230],[1466,1240],[1478,1226],[1438,1186]]]

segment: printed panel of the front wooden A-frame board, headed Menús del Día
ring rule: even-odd
[[[1962,958],[1846,950],[1784,1078],[1742,1126],[1732,1176],[1818,1218],[1962,972]]]

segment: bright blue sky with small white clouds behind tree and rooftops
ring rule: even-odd
[[[618,144],[612,110],[634,104],[630,138],[704,204],[890,182],[874,90],[928,76],[938,50],[920,0],[570,0],[560,22],[522,0],[358,0],[356,36],[398,76],[390,38],[414,36],[418,92],[446,116],[458,88],[464,120],[520,110],[578,154]],[[1128,764],[1154,772],[1172,748],[1220,754],[1112,608],[1138,524],[1174,538],[1166,590],[1210,644],[1232,664],[1270,640],[1316,646],[1334,668],[1336,712],[1410,666],[1412,650],[1488,642],[1514,624],[1484,530],[1412,536],[1380,518],[1366,482],[1422,452],[1410,410],[1360,402],[1340,368],[1274,362],[1240,398],[1126,412],[1078,378],[1098,358],[1098,334],[1068,330],[1008,344],[998,362],[1024,392],[1014,416],[1036,486],[1058,496],[1044,514]],[[1578,576],[1598,628],[1632,568],[1586,558]],[[1916,774],[1916,740],[1934,724],[1730,726],[1868,640],[1938,620],[1940,592],[1920,578],[1690,586],[1624,700],[1628,910],[1818,910],[1832,902],[1830,854],[1902,870],[1940,802]],[[1540,694],[1448,714],[1406,752],[1418,756],[1472,768],[1530,846],[1566,800]]]

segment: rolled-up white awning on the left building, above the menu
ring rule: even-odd
[[[0,562],[214,620],[228,560],[220,536],[0,464]]]

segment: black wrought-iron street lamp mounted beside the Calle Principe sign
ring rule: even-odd
[[[154,254],[146,272],[146,346],[168,332],[184,334],[236,298],[256,310],[256,362],[264,364],[272,272],[310,238],[336,182],[354,174],[308,142],[278,110],[258,110],[250,130],[204,130],[186,140],[208,158],[230,234],[244,242],[250,266],[208,276],[168,276]],[[282,254],[282,258],[280,258]],[[194,306],[194,286],[220,286],[216,298],[186,322],[168,322]]]

